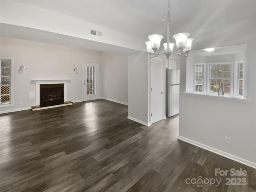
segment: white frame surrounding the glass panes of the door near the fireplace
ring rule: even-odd
[[[84,73],[85,71],[85,68],[86,66],[90,66],[90,65],[96,65],[97,68],[98,68],[98,72],[97,72],[97,76],[98,76],[98,81],[96,80],[96,93],[98,92],[98,96],[97,96],[97,99],[100,98],[100,65],[98,63],[90,63],[90,62],[82,62],[82,98],[83,98],[83,101],[89,101],[89,100],[86,100],[86,96],[84,94],[84,92],[86,91],[85,90],[85,86],[84,86],[84,80],[86,80],[86,73]],[[87,85],[86,85],[87,86]]]

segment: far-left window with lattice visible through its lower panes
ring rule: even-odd
[[[12,103],[12,68],[11,59],[0,59],[1,68],[1,106],[11,106]]]

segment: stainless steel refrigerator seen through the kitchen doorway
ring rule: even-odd
[[[166,69],[166,117],[179,113],[180,70]]]

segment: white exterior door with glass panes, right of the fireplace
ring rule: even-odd
[[[83,63],[83,94],[84,101],[99,98],[99,64]]]

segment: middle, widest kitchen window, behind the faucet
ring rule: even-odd
[[[217,93],[221,87],[224,94],[232,94],[232,63],[211,63],[209,64],[210,74],[210,93]]]

